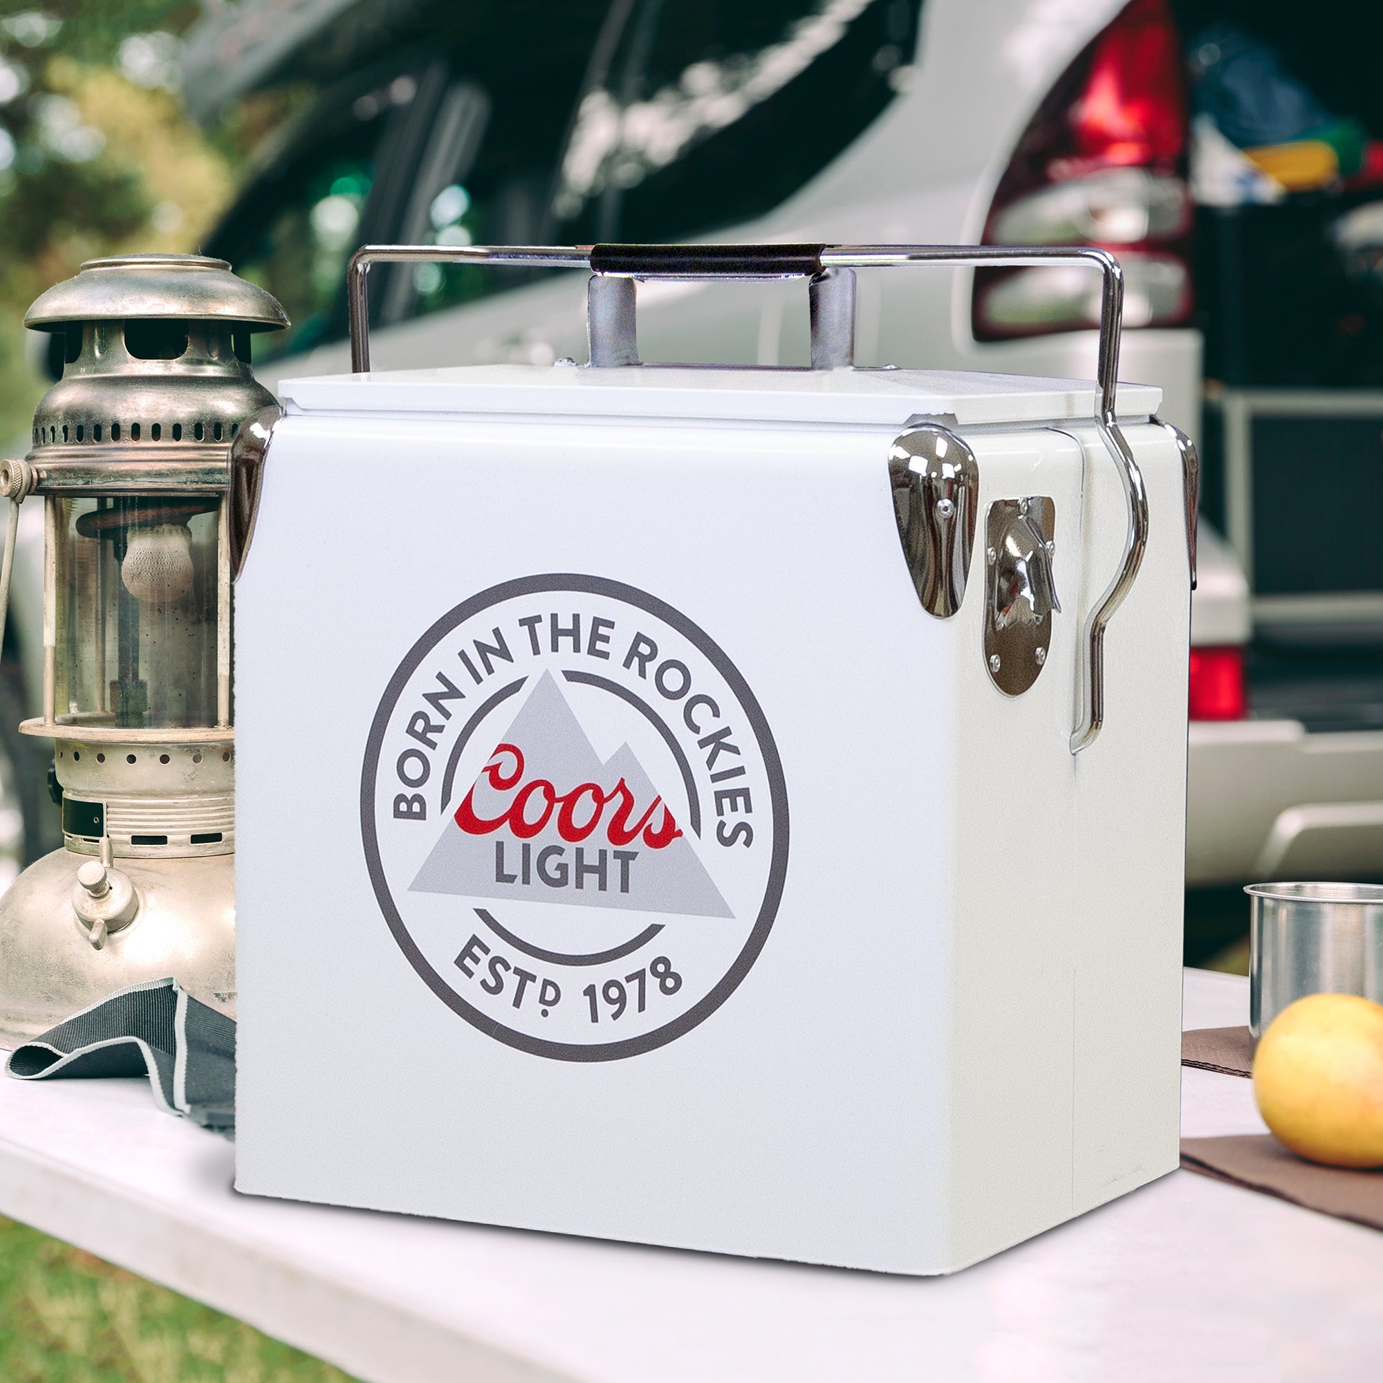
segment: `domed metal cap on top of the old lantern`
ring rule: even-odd
[[[252,332],[288,326],[278,299],[205,254],[119,254],[87,260],[69,279],[40,295],[24,318],[36,331],[69,322],[165,318],[225,321]]]

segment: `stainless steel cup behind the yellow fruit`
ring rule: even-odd
[[[1303,994],[1383,1003],[1383,884],[1250,884],[1249,1029]]]

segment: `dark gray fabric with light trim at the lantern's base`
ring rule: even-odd
[[[147,1075],[170,1113],[235,1131],[235,1022],[174,979],[116,990],[17,1047],[6,1070],[18,1080]]]

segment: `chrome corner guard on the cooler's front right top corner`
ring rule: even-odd
[[[979,463],[946,427],[910,427],[888,452],[893,513],[922,609],[950,618],[965,597],[975,546]]]

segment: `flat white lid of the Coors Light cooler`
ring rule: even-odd
[[[1087,379],[931,369],[781,369],[723,365],[461,365],[286,379],[290,414],[561,415],[716,422],[900,426],[914,414],[957,426],[1095,416]],[[1162,402],[1152,384],[1120,384],[1120,419]]]

